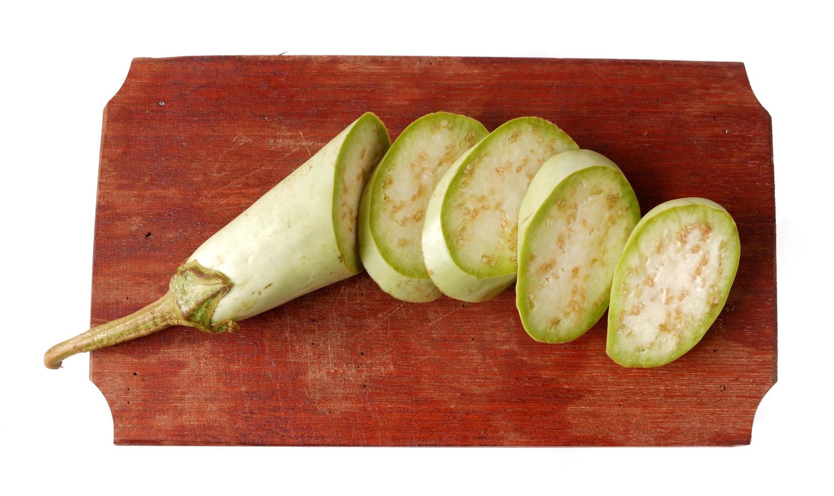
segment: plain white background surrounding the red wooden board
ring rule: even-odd
[[[831,467],[831,13],[810,3],[142,2],[3,8],[3,493],[809,493]],[[23,5],[23,3],[20,3]],[[673,7],[673,5],[680,5]],[[741,61],[773,118],[779,382],[737,448],[116,447],[88,358],[102,109],[133,57]],[[387,490],[386,490],[387,488]],[[818,489],[822,491],[821,488]],[[830,490],[828,487],[826,490]],[[816,492],[816,491],[814,491]]]

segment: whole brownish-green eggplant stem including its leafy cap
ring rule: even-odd
[[[107,348],[175,325],[198,328],[205,333],[234,333],[238,329],[234,321],[212,322],[214,310],[230,288],[232,283],[223,273],[205,268],[196,260],[183,263],[173,273],[165,296],[127,317],[103,323],[56,344],[43,355],[43,364],[47,368],[60,368],[64,358],[76,353]]]

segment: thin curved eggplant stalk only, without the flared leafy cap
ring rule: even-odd
[[[64,358],[71,357],[76,353],[107,348],[113,346],[113,344],[148,336],[173,325],[183,324],[185,322],[178,313],[171,293],[168,292],[162,298],[137,312],[98,325],[85,333],[80,333],[74,338],[69,338],[63,343],[58,343],[49,348],[47,353],[43,355],[43,364],[47,368],[60,368]]]

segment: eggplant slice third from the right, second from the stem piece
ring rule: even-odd
[[[545,119],[515,118],[455,161],[423,226],[425,265],[442,293],[482,302],[515,281],[521,198],[545,160],[577,148]]]

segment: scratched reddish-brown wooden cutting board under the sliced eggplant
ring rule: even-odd
[[[120,444],[749,443],[776,382],[771,119],[740,63],[139,58],[105,108],[92,323],[162,295],[173,269],[365,111],[391,138],[425,113],[494,129],[536,115],[620,165],[646,213],[703,196],[738,223],[726,308],[670,365],[620,368],[605,317],[535,343],[510,288],[402,303],[364,273],[241,323],[92,354]]]

